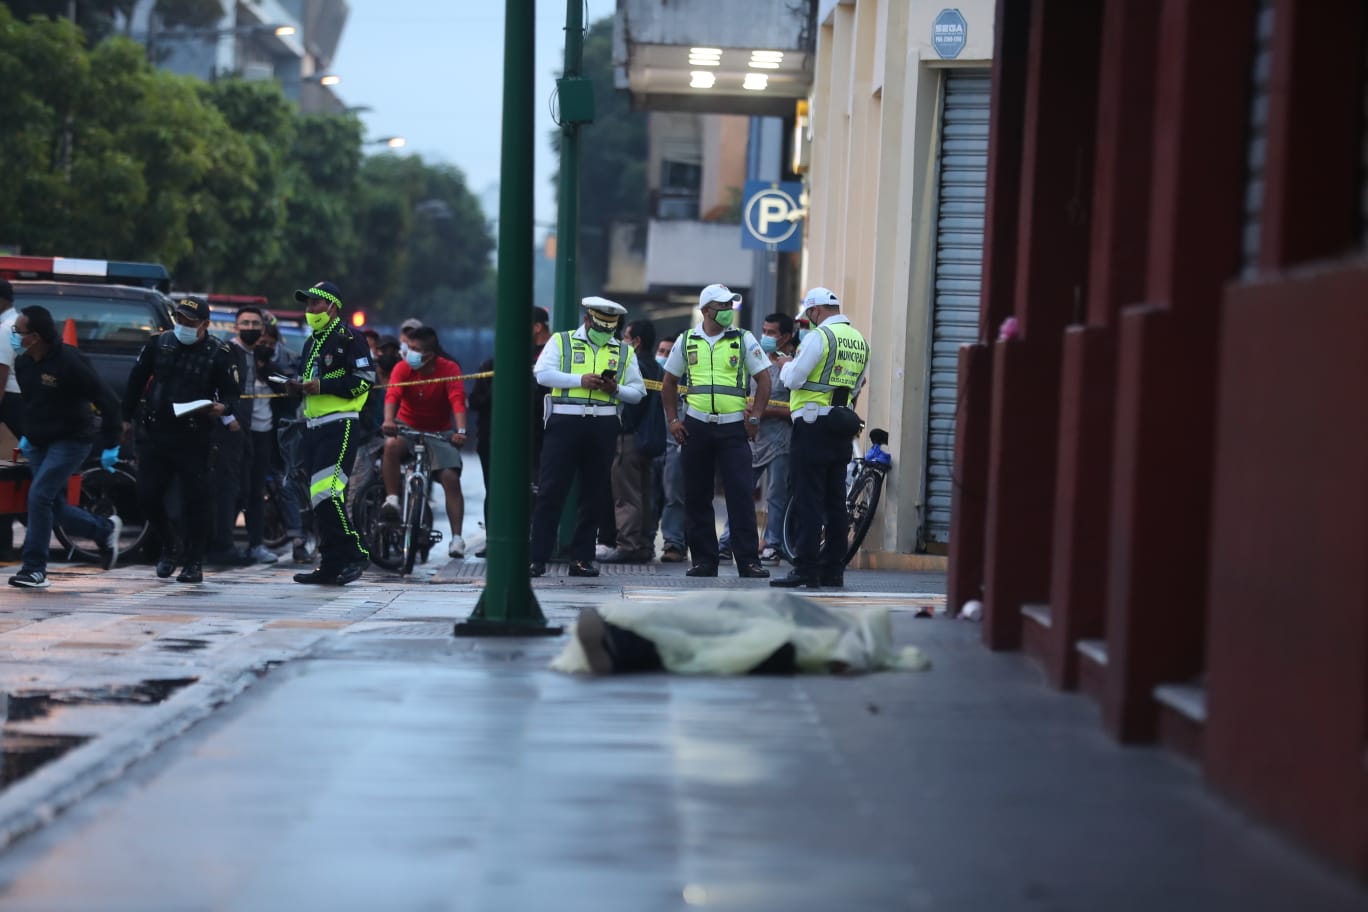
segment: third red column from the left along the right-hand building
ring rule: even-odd
[[[1116,399],[1116,316],[1140,301],[1148,250],[1149,149],[1159,7],[1108,0],[1103,15],[1088,325],[1064,334],[1045,674],[1078,682],[1078,640],[1105,628]]]

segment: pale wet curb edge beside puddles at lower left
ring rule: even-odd
[[[275,658],[248,667],[215,671],[189,685],[148,715],[74,748],[41,770],[0,792],[0,849],[51,823],[59,814],[161,745],[202,722],[246,690]]]

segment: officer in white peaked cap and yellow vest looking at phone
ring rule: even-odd
[[[546,573],[555,543],[561,507],[579,477],[580,503],[570,541],[570,576],[596,577],[594,540],[598,520],[609,498],[609,479],[621,405],[636,405],[646,395],[642,369],[632,346],[617,339],[627,308],[607,298],[584,298],[584,323],[575,331],[557,332],[532,366],[536,381],[550,387],[546,397],[546,436],[536,506],[532,510],[532,546],[528,574]]]

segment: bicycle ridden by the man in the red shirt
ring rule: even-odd
[[[428,465],[427,440],[446,438],[409,428],[399,428],[398,435],[413,443],[413,457],[404,462],[399,520],[383,517],[384,480],[376,473],[357,496],[352,522],[360,531],[372,563],[406,576],[413,573],[419,558],[425,562],[432,546],[442,540],[442,532],[432,528],[432,505],[428,502],[432,468]]]

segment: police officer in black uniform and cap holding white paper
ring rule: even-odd
[[[208,302],[186,298],[172,317],[175,327],[153,336],[133,365],[123,395],[123,418],[131,421],[141,414],[138,505],[161,541],[157,577],[166,580],[179,563],[176,581],[201,582],[200,563],[213,515],[211,433],[215,424],[237,425],[239,379],[228,346],[208,334]],[[179,409],[179,416],[174,407],[202,401],[209,405]],[[179,541],[166,503],[172,481],[181,483]]]

